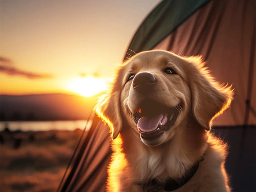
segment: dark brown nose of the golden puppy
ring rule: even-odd
[[[152,73],[138,73],[133,79],[133,88],[140,92],[148,91],[153,88],[156,81]]]

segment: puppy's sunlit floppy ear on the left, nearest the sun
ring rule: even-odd
[[[120,112],[120,79],[116,79],[111,85],[108,93],[105,94],[95,106],[94,110],[97,115],[109,125],[111,129],[112,139],[115,139],[122,129],[122,118]]]

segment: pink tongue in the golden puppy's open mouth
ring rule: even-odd
[[[151,132],[157,129],[158,125],[167,122],[167,115],[159,114],[153,117],[141,117],[137,124],[137,129],[143,132]]]

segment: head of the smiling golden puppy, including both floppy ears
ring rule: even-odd
[[[115,139],[123,121],[146,145],[170,140],[193,117],[202,129],[230,104],[232,90],[203,68],[201,57],[167,51],[141,52],[118,70],[109,94],[96,107]]]

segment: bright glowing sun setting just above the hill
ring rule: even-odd
[[[68,89],[84,97],[91,97],[106,90],[107,82],[104,78],[94,76],[77,77],[68,83]]]

